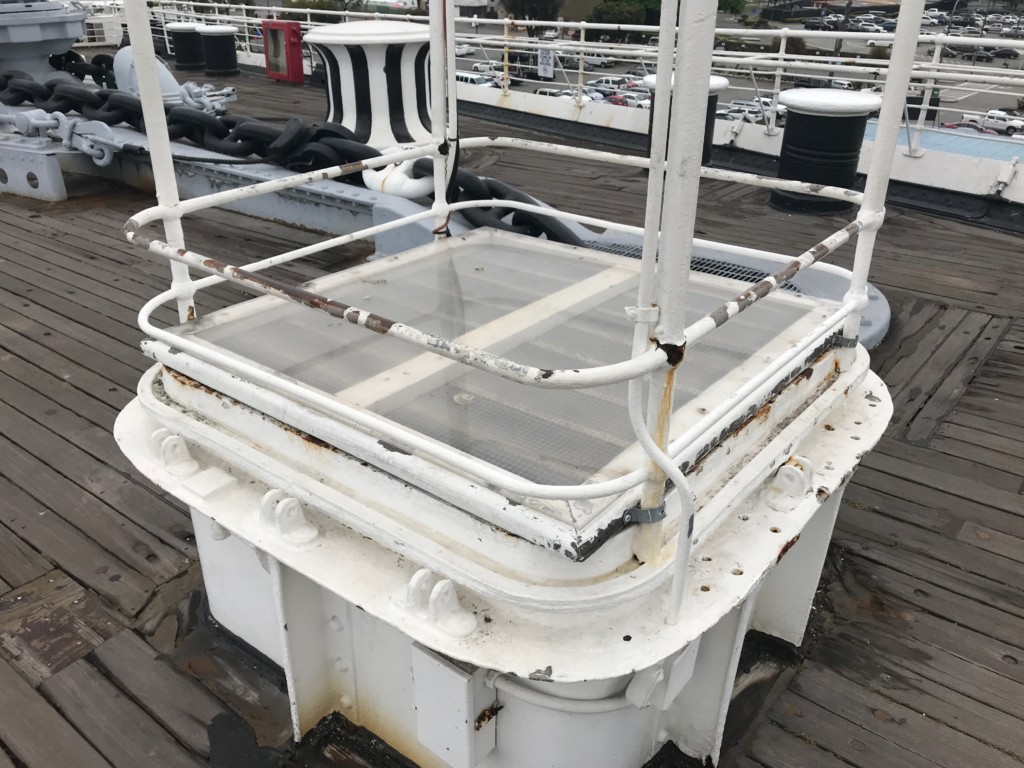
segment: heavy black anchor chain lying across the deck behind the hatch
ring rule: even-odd
[[[86,120],[108,126],[125,123],[144,133],[142,101],[138,96],[114,88],[111,69],[113,61],[113,56],[101,54],[86,63],[74,51],[51,56],[51,65],[60,65],[60,69],[80,80],[88,76],[97,85],[105,86],[98,90],[58,79],[40,83],[23,72],[0,73],[0,103],[8,106],[28,104],[47,113],[78,113]],[[374,147],[359,141],[352,131],[337,123],[307,125],[298,118],[290,118],[283,127],[275,127],[256,118],[215,115],[184,104],[167,104],[164,112],[172,141],[190,141],[197,146],[226,155],[242,163],[253,162],[249,159],[255,156],[260,161],[302,173],[357,163],[381,155]],[[147,153],[140,146],[125,145],[122,148],[135,155]],[[203,158],[193,160],[209,162]],[[412,178],[432,174],[433,161],[430,158],[423,158],[412,164]],[[361,174],[349,174],[336,180],[366,186]],[[537,202],[508,184],[481,178],[463,168],[457,170],[447,197],[450,203],[470,200]],[[473,227],[490,226],[532,237],[543,234],[558,243],[583,245],[583,241],[569,227],[550,216],[501,207],[467,208],[462,214]]]

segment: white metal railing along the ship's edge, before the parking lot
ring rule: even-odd
[[[359,20],[367,18],[399,18],[409,22],[427,23],[423,15],[409,13],[381,13],[381,12],[355,12],[355,11],[327,11],[311,10],[304,8],[290,8],[286,6],[250,6],[244,4],[222,4],[216,2],[190,2],[189,0],[160,0],[153,4],[152,19],[154,35],[162,40],[163,45],[173,50],[170,36],[166,32],[166,24],[171,20],[199,20],[204,23],[232,24],[242,31],[238,39],[240,51],[259,54],[262,51],[262,37],[260,25],[264,17],[278,17],[298,20],[304,31],[325,24],[334,24],[345,20]],[[559,33],[570,32],[579,36],[579,40],[537,40],[516,36],[519,23],[512,18],[504,19],[480,19],[473,17],[456,17],[452,19],[454,29],[457,31],[457,39],[460,42],[469,42],[488,56],[488,51],[494,51],[496,58],[493,61],[495,70],[499,75],[499,81],[506,92],[513,77],[525,80],[532,80],[530,75],[537,74],[536,65],[515,63],[517,53],[536,54],[541,50],[559,50],[563,56],[556,57],[555,79],[561,86],[570,90],[575,97],[575,103],[586,109],[584,88],[589,79],[597,76],[597,73],[588,72],[584,69],[584,61],[587,56],[608,57],[617,61],[636,61],[640,65],[653,65],[656,57],[656,49],[649,46],[633,45],[624,46],[601,42],[602,35],[608,33],[632,33],[639,36],[657,34],[658,28],[643,25],[600,25],[585,22],[530,22],[529,27],[535,30],[556,29]],[[479,26],[489,28],[500,28],[502,34],[478,34]],[[776,132],[776,122],[778,119],[776,105],[778,94],[786,80],[800,78],[801,76],[828,76],[835,77],[837,73],[860,86],[871,87],[885,84],[888,77],[888,59],[874,59],[859,57],[858,54],[829,53],[822,55],[812,54],[792,54],[787,53],[790,41],[800,38],[804,41],[833,43],[841,49],[846,43],[863,43],[867,40],[891,41],[894,40],[892,33],[860,33],[860,32],[838,32],[838,31],[813,31],[802,29],[763,29],[763,30],[716,30],[719,38],[733,38],[737,36],[743,40],[758,41],[759,43],[771,42],[776,39],[780,41],[777,52],[761,51],[716,51],[713,54],[714,72],[720,75],[736,76],[742,79],[750,78],[753,81],[754,89],[760,95],[760,86],[757,83],[756,75],[760,74],[773,78],[773,86],[765,93],[772,99],[772,108],[764,111],[766,128],[768,133]],[[972,88],[984,88],[985,86],[996,86],[1005,89],[1010,98],[1024,97],[1024,74],[1020,72],[1020,67],[1024,66],[1024,55],[1019,59],[1016,73],[1007,71],[982,71],[972,66],[956,63],[946,60],[942,51],[948,45],[966,44],[989,45],[1009,47],[1021,50],[1024,53],[1024,40],[1006,38],[964,38],[950,36],[942,33],[924,33],[919,36],[919,45],[934,46],[931,49],[932,55],[926,55],[924,59],[918,56],[911,74],[910,83],[918,87],[923,94],[929,94],[933,88],[941,87],[945,90],[974,92]],[[313,69],[313,56],[311,51],[304,49],[303,55],[305,66],[311,72]],[[563,66],[565,57],[574,57],[577,67],[566,68]],[[824,59],[824,60],[823,60]],[[651,69],[654,69],[651,67]],[[536,80],[543,84],[545,81]],[[468,87],[468,86],[466,86]],[[923,100],[927,100],[924,99]],[[958,108],[948,108],[939,104],[931,108],[927,104],[919,113],[915,121],[907,121],[908,152],[910,155],[918,155],[916,148],[921,144],[922,136],[926,130],[926,117],[932,111],[952,113],[958,118],[959,115],[970,114]]]

